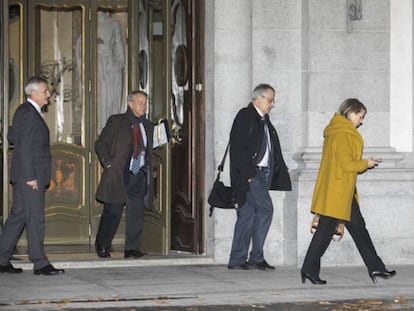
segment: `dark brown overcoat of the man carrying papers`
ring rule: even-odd
[[[146,207],[151,207],[152,198],[152,137],[153,125],[147,119],[143,122],[147,135],[147,195]],[[95,151],[103,166],[103,173],[96,191],[96,199],[106,203],[126,203],[127,191],[124,183],[124,169],[131,159],[132,124],[127,113],[109,117],[101,135],[95,142]],[[108,167],[110,166],[110,167]]]

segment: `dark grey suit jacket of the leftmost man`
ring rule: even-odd
[[[14,145],[11,181],[36,179],[39,189],[46,187],[51,178],[49,128],[30,102],[17,108],[7,139]]]

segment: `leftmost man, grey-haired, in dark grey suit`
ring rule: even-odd
[[[43,250],[45,236],[45,190],[51,177],[49,128],[42,116],[50,93],[47,81],[31,77],[25,86],[27,101],[17,108],[8,133],[14,145],[11,162],[13,205],[0,236],[0,272],[20,273],[10,263],[16,243],[26,226],[29,259],[34,274],[56,275]]]

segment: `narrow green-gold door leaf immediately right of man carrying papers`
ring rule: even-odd
[[[148,118],[157,124],[169,117],[170,81],[168,76],[168,3],[167,1],[139,0],[138,10],[138,63],[136,88],[148,94]],[[155,139],[158,133],[155,132]],[[158,147],[153,152],[152,208],[145,211],[141,239],[143,250],[152,254],[170,252],[169,219],[169,146]]]

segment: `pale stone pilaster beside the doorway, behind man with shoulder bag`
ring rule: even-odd
[[[212,81],[213,89],[207,90],[207,92],[214,92],[214,98],[212,102],[206,102],[206,106],[213,105],[214,107],[213,150],[215,169],[217,169],[223,157],[236,113],[240,108],[247,106],[251,98],[251,7],[251,0],[214,1],[214,59],[210,65],[206,64],[206,70],[214,77],[214,81]],[[210,66],[214,66],[214,68]],[[221,174],[222,179],[227,184],[230,182],[229,162],[229,158],[227,158],[225,172]],[[207,179],[209,185],[212,185],[213,178]],[[210,187],[208,187],[208,191]],[[220,263],[227,263],[236,214],[231,210],[215,209],[213,219],[215,221],[215,260]]]

